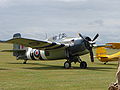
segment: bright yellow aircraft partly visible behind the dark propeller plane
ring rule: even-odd
[[[107,43],[107,45],[112,45],[112,46],[106,46],[107,48],[112,48],[112,49],[120,49],[120,43]],[[105,47],[98,47],[96,49],[96,58],[104,62],[106,64],[107,62],[111,61],[118,61],[120,59],[120,52],[117,52],[112,55],[107,55],[107,51]]]

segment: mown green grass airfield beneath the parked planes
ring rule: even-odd
[[[9,44],[0,44],[1,49],[11,49]],[[115,50],[109,50],[110,53]],[[12,53],[0,53],[0,90],[107,90],[115,81],[117,62],[104,65],[89,55],[81,57],[88,63],[87,69],[64,69],[65,60],[17,61]]]

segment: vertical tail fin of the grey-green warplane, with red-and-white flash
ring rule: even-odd
[[[16,33],[13,35],[13,38],[21,38],[21,34],[20,33]],[[19,45],[19,44],[13,44],[13,50],[24,50],[25,47],[23,45]],[[20,53],[19,52],[13,52],[13,56],[19,56]]]

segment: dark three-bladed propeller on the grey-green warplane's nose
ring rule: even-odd
[[[87,45],[87,48],[88,48],[88,50],[89,50],[89,52],[90,52],[91,62],[94,62],[94,55],[93,55],[93,50],[92,50],[92,48],[93,48],[93,45],[95,44],[95,40],[98,38],[99,34],[96,34],[93,39],[91,39],[91,38],[89,38],[89,37],[84,38],[80,33],[78,33],[78,34],[79,34],[79,36],[80,36],[83,40],[85,40],[85,41],[87,42],[87,44],[88,44],[88,45]]]

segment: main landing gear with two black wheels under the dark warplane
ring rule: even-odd
[[[71,63],[74,62],[79,62],[80,63],[80,68],[85,69],[87,68],[87,63],[85,61],[82,61],[79,57],[74,57],[74,58],[69,58],[65,63],[64,63],[64,68],[69,69],[71,68]]]

